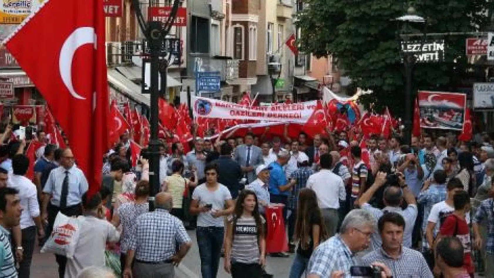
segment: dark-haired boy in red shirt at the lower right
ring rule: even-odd
[[[454,211],[448,215],[441,228],[436,239],[436,244],[445,237],[456,237],[463,244],[463,251],[465,256],[463,257],[463,268],[470,274],[470,277],[474,277],[475,267],[472,261],[472,244],[470,240],[470,229],[466,221],[466,214],[470,211],[470,196],[464,190],[458,191],[453,196]],[[434,268],[436,274],[437,266]]]

